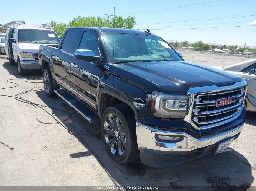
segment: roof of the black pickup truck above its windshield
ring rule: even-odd
[[[149,35],[148,33],[145,33],[145,31],[131,30],[131,29],[107,28],[107,27],[70,27],[68,29],[72,29],[72,28],[98,30],[101,33],[114,33],[114,30],[115,30],[115,33],[120,33],[120,34]],[[151,36],[157,36],[157,35],[151,34]]]

